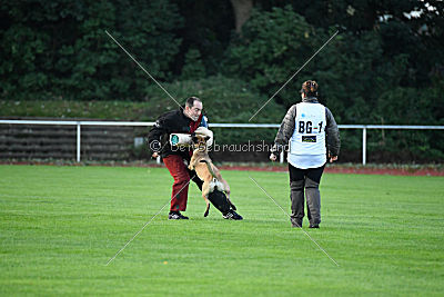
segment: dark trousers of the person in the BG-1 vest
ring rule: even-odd
[[[310,225],[321,222],[321,194],[319,185],[325,165],[317,168],[299,169],[289,164],[291,189],[291,221],[293,226],[302,227],[304,218],[304,191],[306,196],[306,211]]]

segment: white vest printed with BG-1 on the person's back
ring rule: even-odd
[[[319,165],[322,166],[326,161],[325,107],[321,103],[297,103],[294,121],[294,132],[290,139],[289,161],[301,159],[296,156],[311,156],[319,160],[316,164],[322,162]],[[310,159],[310,157],[302,159]],[[309,165],[293,164],[293,166],[303,168]]]

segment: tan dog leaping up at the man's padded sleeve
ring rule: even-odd
[[[230,200],[230,186],[224,180],[219,169],[213,165],[208,154],[206,141],[210,139],[209,136],[194,135],[192,137],[193,156],[191,157],[189,169],[195,170],[198,177],[203,180],[202,185],[202,198],[205,200],[206,210],[203,215],[206,217],[210,211],[209,195],[214,190],[225,192],[226,200],[230,206],[236,210],[235,206]]]

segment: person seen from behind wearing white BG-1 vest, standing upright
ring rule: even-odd
[[[310,228],[319,228],[319,185],[326,159],[330,162],[337,160],[341,142],[332,112],[317,101],[317,83],[314,80],[302,83],[301,97],[302,102],[293,105],[282,120],[270,159],[276,160],[276,152],[290,141],[291,224],[292,227],[302,227],[305,190]]]

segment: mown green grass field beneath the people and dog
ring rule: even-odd
[[[168,207],[163,168],[0,166],[0,295],[444,294],[444,178],[324,175],[321,229],[290,211],[287,175],[224,171],[243,221],[190,188]]]

